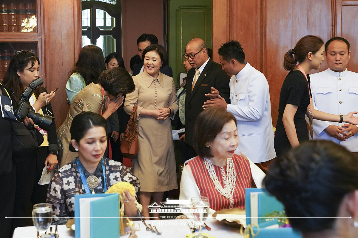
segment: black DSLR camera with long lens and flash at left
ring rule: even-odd
[[[54,120],[54,117],[50,117],[48,115],[41,115],[40,113],[36,113],[32,111],[31,106],[28,102],[31,97],[33,91],[38,86],[41,86],[43,81],[41,78],[37,78],[30,83],[30,85],[25,89],[24,93],[20,97],[20,101],[18,104],[18,108],[15,110],[15,117],[18,121],[23,122],[25,117],[31,118],[36,125],[40,128],[49,131],[50,125]]]

